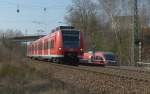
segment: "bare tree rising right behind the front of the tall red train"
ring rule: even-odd
[[[84,32],[85,47],[91,48],[95,33],[99,30],[97,20],[97,6],[92,0],[73,0],[69,9],[67,22]]]

